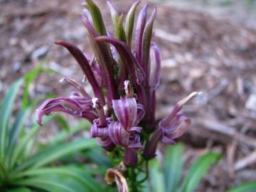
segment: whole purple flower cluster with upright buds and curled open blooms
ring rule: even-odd
[[[75,80],[64,78],[62,81],[72,85],[76,92],[70,97],[46,100],[38,110],[37,120],[41,124],[43,115],[52,112],[88,119],[92,122],[90,137],[97,137],[107,151],[115,147],[123,149],[124,165],[134,167],[138,163],[138,152],[144,159],[152,159],[159,141],[174,144],[174,139],[188,129],[191,120],[181,109],[197,93],[178,102],[171,114],[156,124],[155,92],[161,68],[160,51],[152,41],[156,9],[147,19],[148,7],[144,6],[134,26],[139,1],[132,4],[126,17],[111,1],[108,0],[107,5],[114,33],[107,31],[100,9],[91,0],[86,0],[84,15],[80,16],[94,56],[83,53],[72,43],[55,42],[73,55],[92,86],[94,96]]]

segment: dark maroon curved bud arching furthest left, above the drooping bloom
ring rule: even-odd
[[[92,85],[92,90],[95,93],[95,97],[98,97],[102,105],[105,105],[105,98],[100,89],[100,85],[97,83],[95,75],[92,72],[92,68],[90,68],[90,64],[85,58],[84,53],[82,53],[77,46],[74,46],[72,43],[68,43],[66,41],[56,41],[55,44],[63,46],[69,50],[71,55],[73,55],[75,60],[77,60],[80,68],[82,68],[82,71],[85,73],[90,85]]]

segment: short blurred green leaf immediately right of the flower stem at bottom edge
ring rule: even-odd
[[[156,159],[149,161],[149,178],[152,192],[166,191],[164,186],[164,174],[160,169],[159,161]]]

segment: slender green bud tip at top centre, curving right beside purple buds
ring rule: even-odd
[[[140,3],[140,0],[135,1],[134,4],[132,4],[131,8],[128,11],[127,18],[125,21],[125,33],[127,35],[127,45],[129,46],[129,48],[132,48],[132,33],[133,33],[133,29],[134,29],[134,16],[135,16],[135,11],[136,11],[139,3]]]

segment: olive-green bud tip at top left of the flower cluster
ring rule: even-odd
[[[95,3],[93,3],[92,0],[85,0],[85,1],[87,3],[87,8],[92,14],[92,21],[97,33],[99,33],[102,36],[106,36],[107,30],[103,22],[102,14],[100,13],[100,9],[97,7]]]

